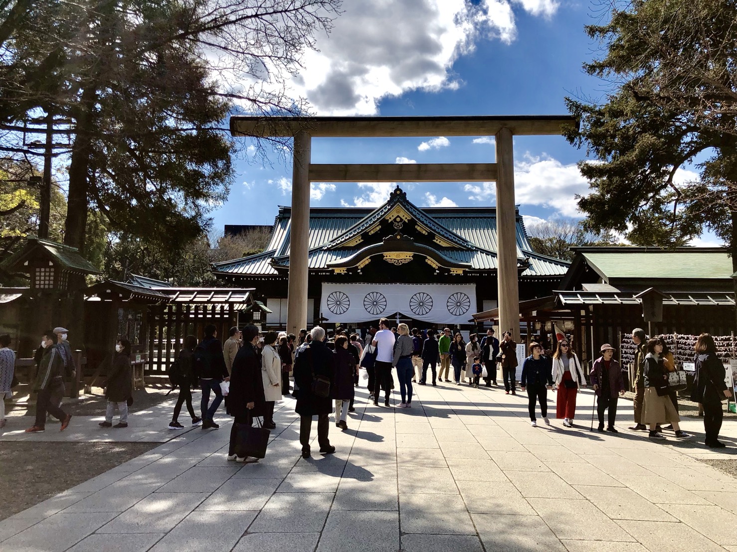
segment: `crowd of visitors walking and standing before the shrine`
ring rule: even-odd
[[[26,431],[45,431],[46,422],[55,418],[61,431],[67,428],[71,414],[61,408],[64,378],[74,377],[76,367],[67,340],[69,330],[55,328],[41,336],[36,352],[38,372],[32,390],[38,394],[35,423]],[[220,342],[217,328],[204,328],[203,339],[186,336],[184,347],[178,352],[169,369],[172,384],[178,388],[171,430],[183,429],[178,422],[181,408],[186,404],[192,426],[203,430],[217,429],[214,415],[223,399],[226,411],[234,417],[228,459],[250,462],[253,457],[236,454],[236,425],[251,426],[254,418],[262,419],[262,427],[276,428],[273,420],[275,403],[284,395],[296,397],[296,413],[300,416],[299,439],[302,456],[310,452],[312,418],[318,418],[318,445],[320,453],[335,451],[329,442],[329,417],[336,427],[348,429],[348,414],[355,410],[354,389],[359,386],[360,373],[368,389],[368,400],[374,406],[391,406],[396,370],[401,403],[399,408],[412,408],[413,383],[427,385],[430,369],[433,386],[451,383],[453,367],[455,385],[467,383],[478,388],[483,380],[486,386],[497,385],[497,371],[502,372],[506,394],[517,394],[517,342],[510,331],[502,339],[493,329],[478,339],[470,334],[468,342],[460,332],[444,328],[439,337],[429,328],[410,330],[408,325],[390,326],[388,319],[380,319],[377,326],[368,328],[364,336],[342,328],[327,331],[321,327],[300,330],[298,336],[269,331],[262,334],[254,325],[240,330],[231,328],[228,339]],[[556,418],[565,428],[573,428],[576,419],[576,397],[587,386],[587,377],[581,361],[573,351],[568,337],[559,339],[555,350],[533,336],[528,344],[528,355],[522,362],[519,388],[528,395],[530,423],[537,427],[537,409],[545,425],[548,418],[548,391],[556,390]],[[674,431],[677,439],[690,439],[680,428],[677,394],[668,388],[668,374],[676,365],[662,337],[648,339],[644,330],[632,331],[635,344],[635,371],[632,388],[635,390],[635,424],[631,431],[648,431],[651,439],[665,439],[665,430]],[[15,353],[10,350],[10,336],[0,336],[0,397],[5,398],[15,385]],[[618,399],[626,392],[625,372],[614,358],[615,348],[604,344],[601,355],[593,361],[589,385],[595,393],[595,411],[598,431],[618,433],[615,427]],[[724,367],[716,354],[713,338],[702,333],[695,345],[696,374],[691,387],[691,400],[704,410],[705,445],[724,447],[719,442],[722,426],[722,400],[731,397],[724,383]],[[439,369],[438,369],[439,366]],[[293,376],[293,388],[290,387]],[[128,427],[128,406],[132,403],[130,343],[120,339],[109,358],[104,383],[107,408],[102,427]],[[200,389],[200,415],[192,406],[192,389]],[[211,400],[212,397],[212,400]],[[4,401],[0,400],[0,428],[6,424]],[[113,425],[115,412],[119,422]],[[606,420],[605,420],[606,416]],[[605,424],[606,422],[606,424]],[[668,424],[665,428],[663,425]]]

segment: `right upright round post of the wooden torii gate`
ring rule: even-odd
[[[512,134],[502,128],[496,135],[497,148],[497,289],[499,328],[511,328],[520,342],[520,286],[517,281],[517,217],[514,210],[514,155]]]

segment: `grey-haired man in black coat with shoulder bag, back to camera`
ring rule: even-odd
[[[299,387],[296,411],[299,414],[299,442],[302,445],[302,458],[310,458],[310,429],[312,417],[318,417],[318,443],[321,454],[332,454],[335,447],[328,439],[329,414],[332,412],[332,391],[335,383],[335,354],[325,344],[325,330],[319,326],[310,332],[310,345],[300,352],[294,361],[294,381]],[[321,375],[330,381],[327,397],[318,397],[312,392],[314,375]]]

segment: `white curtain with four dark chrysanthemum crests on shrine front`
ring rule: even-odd
[[[320,313],[353,324],[391,316],[436,324],[468,324],[476,311],[475,284],[323,283]]]

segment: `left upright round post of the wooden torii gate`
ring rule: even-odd
[[[289,245],[287,333],[297,335],[307,320],[307,250],[310,244],[310,151],[304,130],[294,136],[292,220]]]

